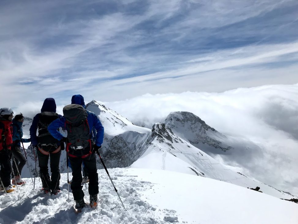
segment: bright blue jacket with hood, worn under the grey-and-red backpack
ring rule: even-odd
[[[71,104],[79,104],[79,105],[83,106],[84,108],[86,108],[86,105],[84,102],[84,97],[82,95],[73,95],[71,98]],[[102,126],[100,120],[94,113],[92,113],[88,110],[86,110],[86,111],[88,114],[87,120],[88,120],[88,124],[89,124],[89,128],[90,128],[90,134],[95,135],[95,133],[96,133],[96,136],[94,136],[93,140],[95,141],[95,144],[97,146],[101,146],[101,144],[104,141],[104,127]],[[53,121],[47,127],[47,129],[54,138],[61,140],[63,136],[60,132],[57,131],[57,129],[59,127],[64,128],[64,126],[65,126],[65,118],[61,117],[61,118],[58,118],[55,121]]]

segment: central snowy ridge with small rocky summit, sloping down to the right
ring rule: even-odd
[[[150,139],[147,139],[144,153],[130,167],[153,168],[209,177],[233,183],[242,187],[260,187],[261,191],[278,198],[293,198],[262,182],[234,172],[213,159],[202,150],[176,136],[164,123],[156,123]]]

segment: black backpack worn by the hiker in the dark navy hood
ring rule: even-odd
[[[57,143],[55,139],[47,130],[47,127],[51,122],[59,118],[59,115],[55,112],[42,112],[39,114],[38,121],[38,145],[41,149],[49,152],[57,149]]]

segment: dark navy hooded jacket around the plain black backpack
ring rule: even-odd
[[[42,106],[40,111],[41,112],[55,112],[56,113],[55,99],[46,98],[43,102],[43,106]],[[35,117],[33,118],[33,121],[32,121],[32,125],[30,127],[30,138],[31,138],[32,145],[37,145],[38,144],[36,131],[37,131],[38,122],[39,122],[39,115],[40,114],[35,115]],[[59,116],[61,116],[61,115],[59,115]],[[57,145],[59,146],[60,143],[58,143]]]

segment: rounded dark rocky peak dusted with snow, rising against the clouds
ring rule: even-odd
[[[175,135],[205,152],[219,153],[232,149],[232,146],[225,144],[228,140],[226,136],[190,112],[172,112],[164,123]]]

